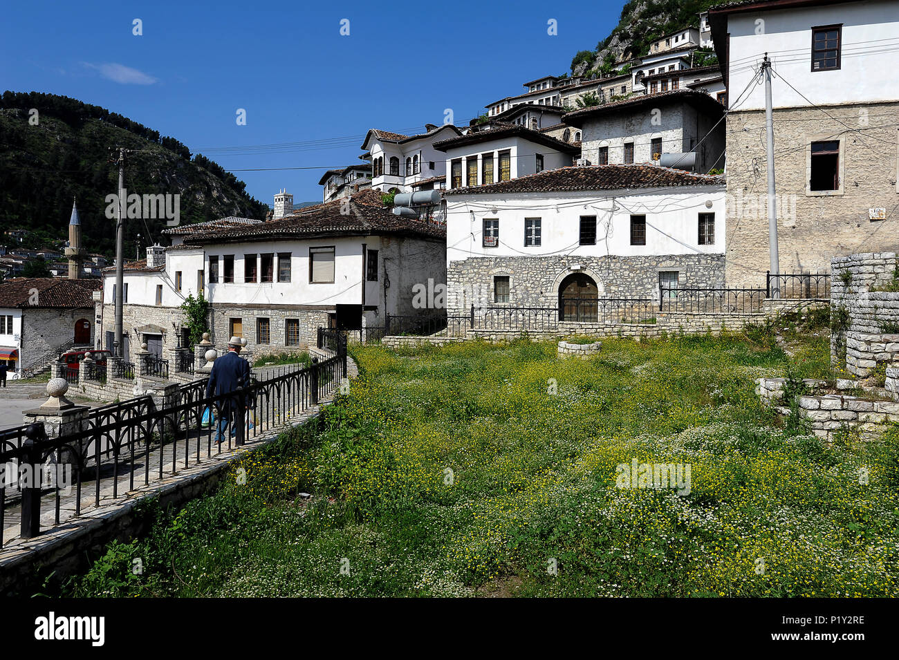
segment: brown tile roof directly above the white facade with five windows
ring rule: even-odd
[[[500,183],[454,188],[444,195],[489,195],[510,192],[558,192],[565,190],[625,190],[677,186],[724,185],[724,176],[694,174],[649,164],[586,165],[561,167]]]

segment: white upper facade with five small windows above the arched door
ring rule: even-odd
[[[723,254],[725,186],[547,193],[459,194],[447,198],[447,263],[471,257]],[[716,242],[699,244],[699,214],[715,214]],[[631,216],[645,215],[645,245],[630,244]],[[580,245],[580,217],[596,216],[594,245]],[[539,246],[525,245],[525,219],[540,219]],[[499,241],[484,245],[484,220]]]

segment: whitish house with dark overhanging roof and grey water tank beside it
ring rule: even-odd
[[[658,163],[708,173],[725,166],[724,108],[692,90],[659,92],[575,110],[563,118],[583,131],[590,164]]]

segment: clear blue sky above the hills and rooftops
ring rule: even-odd
[[[448,108],[467,124],[521,83],[567,71],[622,5],[7,2],[0,89],[119,112],[206,154],[270,205],[281,188],[296,202],[320,200],[322,173],[358,163],[369,128],[441,124]],[[215,150],[284,143],[302,144]],[[297,167],[313,169],[271,171]],[[241,172],[254,168],[269,171]]]

